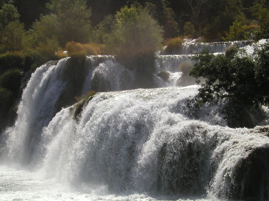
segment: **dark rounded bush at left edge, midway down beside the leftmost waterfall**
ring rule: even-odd
[[[21,86],[22,72],[18,69],[5,71],[0,77],[0,87],[17,94]]]

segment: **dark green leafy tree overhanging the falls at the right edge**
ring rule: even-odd
[[[228,101],[224,110],[227,118],[235,120],[240,115],[246,116],[248,114],[244,110],[253,110],[251,108],[256,108],[259,113],[258,106],[269,104],[268,42],[254,45],[252,55],[233,47],[226,55],[202,51],[195,54],[193,60],[197,63],[190,75],[196,79],[201,76],[206,79],[199,89],[200,97],[204,102],[225,98]],[[247,123],[243,124],[247,126]]]

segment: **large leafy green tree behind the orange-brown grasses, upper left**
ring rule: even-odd
[[[68,41],[86,43],[91,37],[91,9],[85,0],[51,0],[46,4],[51,10],[33,25],[39,36],[39,42],[46,38],[56,38],[64,47]]]

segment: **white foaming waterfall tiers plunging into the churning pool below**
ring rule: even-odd
[[[81,110],[62,100],[69,59],[37,68],[0,136],[1,163],[26,168],[0,166],[4,200],[269,199],[268,134],[227,127],[224,102],[199,105],[199,86],[175,87],[187,56],[158,56],[156,88],[133,90],[134,72],[113,56],[87,57],[79,94],[106,92]]]

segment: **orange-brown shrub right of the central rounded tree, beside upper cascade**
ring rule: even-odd
[[[164,41],[167,46],[164,50],[164,54],[181,54],[183,40],[180,37],[168,38]]]

